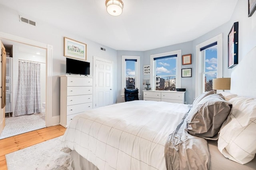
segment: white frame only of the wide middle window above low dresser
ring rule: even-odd
[[[152,54],[150,55],[150,67],[151,67],[151,73],[150,73],[150,87],[153,90],[156,90],[156,64],[154,61],[154,58],[158,57],[164,57],[168,55],[177,55],[176,59],[176,84],[175,87],[180,88],[181,87],[181,49],[178,49],[176,51],[168,51],[165,53],[158,53],[158,54]]]

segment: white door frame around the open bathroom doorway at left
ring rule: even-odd
[[[7,34],[0,32],[0,39],[10,40],[13,42],[23,43],[26,45],[31,45],[34,47],[39,47],[46,49],[46,107],[45,107],[45,124],[46,127],[53,125],[58,125],[60,122],[60,116],[52,116],[52,95],[47,95],[52,93],[52,45],[37,42],[27,38],[22,38],[19,36],[14,36],[12,34]]]

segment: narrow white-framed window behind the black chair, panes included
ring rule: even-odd
[[[140,56],[122,56],[122,95],[124,88],[139,89],[140,87]],[[140,91],[139,91],[140,95]]]

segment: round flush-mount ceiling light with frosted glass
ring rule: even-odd
[[[124,7],[122,0],[106,0],[105,4],[108,14],[112,16],[119,16],[122,14]]]

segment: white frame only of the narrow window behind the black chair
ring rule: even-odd
[[[122,55],[122,92],[121,96],[124,97],[124,88],[126,87],[126,61],[125,59],[136,59],[135,63],[135,89],[139,89],[138,95],[140,96],[140,56]]]

